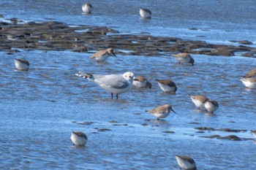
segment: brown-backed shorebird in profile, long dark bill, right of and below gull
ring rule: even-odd
[[[146,112],[149,112],[154,117],[157,117],[158,120],[160,118],[165,118],[168,115],[170,115],[170,111],[174,112],[174,110],[172,109],[170,104],[165,104],[165,105],[162,105],[160,107],[156,107],[154,109],[146,110]],[[174,113],[176,113],[176,112],[174,112]]]

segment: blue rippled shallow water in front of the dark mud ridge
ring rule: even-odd
[[[195,66],[180,66],[167,56],[118,55],[107,63],[68,51],[1,56],[1,168],[177,169],[175,154],[191,155],[200,169],[255,167],[249,130],[255,128],[256,90],[246,90],[239,81],[248,63],[255,66],[254,58],[192,55]],[[29,72],[14,71],[15,57],[31,61]],[[102,70],[144,75],[153,88],[133,89],[110,99],[110,93],[74,75]],[[176,95],[162,93],[154,81],[162,78],[176,82]],[[220,107],[207,115],[195,109],[189,94],[204,94]],[[176,115],[156,120],[144,112],[167,103]],[[246,131],[197,133],[195,128],[201,126]],[[89,136],[86,147],[72,148],[72,131]],[[251,140],[200,137],[214,134]]]

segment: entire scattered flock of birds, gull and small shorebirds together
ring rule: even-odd
[[[89,14],[93,7],[91,4],[86,3],[83,5],[83,12]],[[143,9],[140,7],[140,16],[141,18],[151,18],[151,11],[149,9]],[[113,48],[108,48],[107,50],[99,50],[94,55],[91,55],[91,59],[94,59],[97,62],[106,61],[110,55],[116,56]],[[179,64],[187,63],[192,66],[195,63],[195,60],[192,58],[189,53],[178,53],[172,55]],[[29,71],[29,61],[21,58],[15,58],[15,66],[19,71]],[[83,77],[91,82],[96,83],[101,88],[108,90],[111,93],[111,98],[113,94],[126,93],[135,88],[151,88],[151,83],[148,82],[146,77],[138,76],[135,77],[135,74],[132,72],[125,72],[124,74],[108,74],[108,75],[99,75],[99,74],[88,74],[85,72],[78,72],[75,74],[78,77]],[[246,88],[256,88],[256,69],[252,69],[244,76],[244,79],[241,79],[241,82],[244,83]],[[164,93],[176,93],[177,87],[176,84],[171,80],[156,80],[159,88],[161,88]],[[210,100],[206,96],[190,96],[192,102],[198,109],[206,109],[208,113],[214,113],[218,108],[219,104],[217,101]],[[156,107],[154,109],[146,110],[146,112],[151,113],[157,119],[165,118],[170,115],[170,111],[176,113],[170,104],[165,104],[163,106]],[[252,134],[256,137],[256,130],[252,131]],[[80,131],[73,131],[71,134],[71,140],[75,146],[85,146],[87,142],[86,134]],[[195,161],[189,156],[176,155],[176,160],[181,169],[192,170],[196,169]]]

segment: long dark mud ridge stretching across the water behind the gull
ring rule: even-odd
[[[252,42],[236,42],[237,45],[214,45],[203,41],[184,40],[176,37],[151,36],[148,34],[119,34],[108,27],[68,26],[59,22],[23,23],[16,18],[0,22],[0,50],[7,53],[24,50],[105,50],[113,47],[116,53],[127,55],[166,55],[192,53],[203,55],[232,56],[241,53],[256,57]]]

